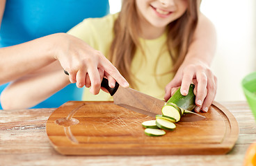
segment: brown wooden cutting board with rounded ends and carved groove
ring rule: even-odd
[[[47,136],[64,155],[226,154],[237,141],[232,113],[214,102],[205,120],[178,122],[175,131],[146,136],[141,123],[154,118],[113,102],[66,102],[47,120]]]

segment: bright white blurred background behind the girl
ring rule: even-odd
[[[109,0],[109,4],[111,13],[120,11],[121,0]],[[256,71],[256,1],[202,0],[200,10],[217,31],[216,55],[211,66],[218,78],[215,100],[246,100],[241,80]]]

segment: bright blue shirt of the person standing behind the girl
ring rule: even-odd
[[[66,33],[83,19],[103,17],[108,13],[108,0],[6,0],[0,47],[21,44],[53,33]],[[6,85],[0,86],[0,93]],[[70,84],[33,108],[59,107],[70,100],[81,100],[82,93],[83,89]]]

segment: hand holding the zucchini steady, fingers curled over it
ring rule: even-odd
[[[202,62],[195,62],[180,67],[173,80],[166,86],[165,100],[168,100],[173,93],[181,86],[182,95],[187,95],[189,85],[195,84],[195,111],[207,112],[214,101],[217,89],[217,79],[209,67]]]

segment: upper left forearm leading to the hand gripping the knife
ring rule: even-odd
[[[31,42],[0,48],[0,84],[16,80],[54,62],[57,35],[49,35]]]

